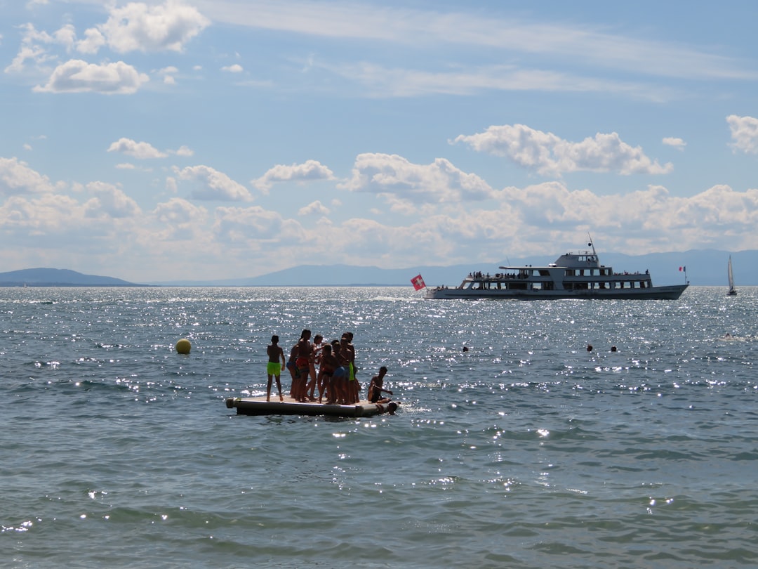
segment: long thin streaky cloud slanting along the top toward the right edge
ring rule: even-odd
[[[678,42],[603,33],[581,24],[531,21],[480,11],[393,8],[346,2],[196,0],[216,22],[308,36],[393,42],[398,46],[472,46],[487,52],[570,58],[587,69],[661,77],[755,80],[735,58]]]

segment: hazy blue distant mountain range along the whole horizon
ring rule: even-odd
[[[726,264],[731,254],[737,288],[758,285],[758,251],[729,253],[719,250],[690,250],[684,253],[650,253],[631,256],[623,253],[599,253],[604,266],[615,272],[645,272],[650,270],[654,285],[675,285],[686,276],[691,285],[726,287]],[[227,278],[216,281],[158,281],[136,284],[120,278],[83,275],[67,269],[23,269],[0,273],[0,286],[47,287],[135,287],[135,286],[411,286],[411,278],[421,274],[430,287],[457,286],[472,271],[499,272],[500,266],[544,266],[556,260],[554,256],[531,256],[506,259],[501,262],[472,262],[456,266],[417,266],[406,269],[380,269],[374,266],[302,265],[283,271],[251,278]],[[680,268],[682,270],[680,270]]]

